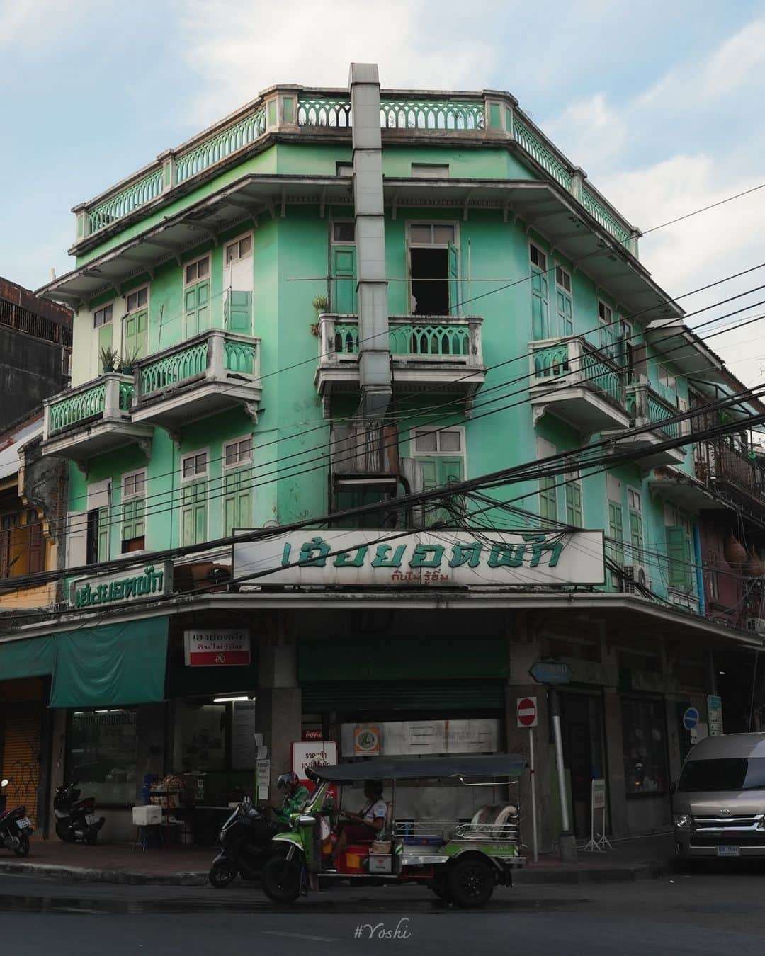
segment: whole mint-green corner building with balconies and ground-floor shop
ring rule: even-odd
[[[347,89],[270,88],[75,212],[76,268],[41,290],[76,311],[42,443],[70,462],[68,610],[18,629],[4,674],[50,678],[59,775],[113,808],[111,834],[146,774],[225,802],[267,753],[274,797],[301,741],[362,759],[361,728],[371,752],[528,751],[533,697],[549,846],[540,660],[570,673],[578,835],[594,778],[610,832],[666,827],[684,752],[719,730],[718,660],[751,677],[762,646],[722,620],[722,584],[710,600],[740,499],[692,429],[764,409],[724,403],[743,386],[639,230],[514,98],[381,91],[355,64]],[[587,445],[613,460],[585,467]],[[757,515],[726,587],[752,590]]]

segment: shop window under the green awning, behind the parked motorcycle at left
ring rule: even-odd
[[[68,736],[67,777],[98,804],[136,802],[136,711],[77,710]]]

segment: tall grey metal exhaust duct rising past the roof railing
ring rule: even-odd
[[[357,414],[365,424],[373,424],[387,415],[392,395],[385,277],[383,138],[377,64],[352,63],[348,87],[353,111],[353,199],[359,311],[361,403]]]

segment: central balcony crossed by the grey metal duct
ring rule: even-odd
[[[394,315],[388,323],[397,394],[441,392],[470,400],[486,379],[477,316]],[[359,390],[359,319],[356,315],[320,315],[319,395],[329,408],[336,392]]]

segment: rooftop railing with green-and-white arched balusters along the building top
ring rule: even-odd
[[[135,176],[76,206],[76,246],[90,236],[148,206],[178,186],[243,154],[264,137],[286,130],[316,133],[318,129],[347,130],[352,126],[351,100],[341,90],[273,87],[235,116],[168,150]],[[590,216],[633,255],[639,232],[592,185],[586,175],[557,150],[508,94],[383,91],[380,125],[384,130],[514,141],[541,170],[566,189]]]

